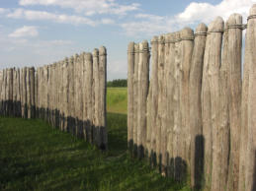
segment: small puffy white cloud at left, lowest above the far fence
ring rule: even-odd
[[[24,26],[9,34],[9,37],[35,37],[39,32],[35,26]]]

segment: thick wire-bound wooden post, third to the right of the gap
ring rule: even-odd
[[[148,42],[139,43],[138,62],[138,102],[137,102],[137,146],[138,158],[144,156],[146,147],[146,97],[149,86],[149,49]]]

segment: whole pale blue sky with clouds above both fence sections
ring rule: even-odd
[[[256,0],[1,0],[0,69],[42,66],[105,45],[108,80],[127,78],[129,41],[216,16],[246,17]]]

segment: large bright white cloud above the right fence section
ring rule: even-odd
[[[222,0],[219,4],[190,3],[183,12],[174,16],[160,17],[149,14],[137,14],[135,22],[121,24],[128,35],[150,36],[164,32],[181,30],[185,26],[195,28],[199,23],[209,24],[217,16],[226,20],[231,14],[239,13],[244,23],[250,7],[256,0]]]

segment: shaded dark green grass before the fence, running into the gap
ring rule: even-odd
[[[190,190],[129,157],[127,115],[112,110],[105,153],[40,119],[0,117],[0,190]]]

